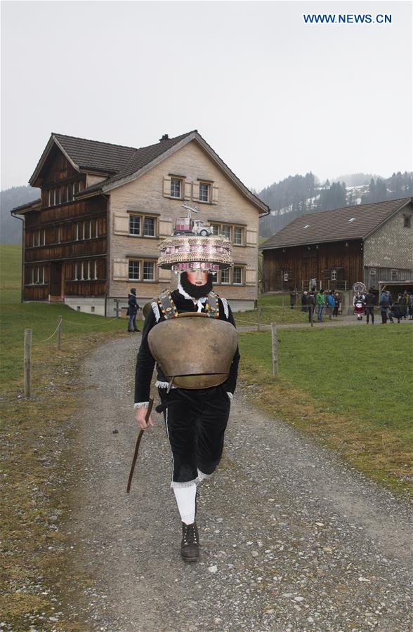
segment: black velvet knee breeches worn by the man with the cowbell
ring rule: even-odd
[[[174,482],[214,473],[221,460],[230,399],[223,386],[200,390],[159,388],[173,456]]]

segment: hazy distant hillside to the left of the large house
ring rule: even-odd
[[[40,189],[34,187],[11,187],[0,192],[0,244],[22,243],[22,222],[10,211],[39,197]]]

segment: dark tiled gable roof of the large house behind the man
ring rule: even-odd
[[[165,135],[166,136],[166,135]],[[52,133],[48,144],[41,154],[39,162],[29,180],[33,186],[36,185],[41,169],[43,168],[48,154],[53,146],[59,147],[60,151],[77,171],[93,171],[107,176],[105,180],[92,185],[79,192],[76,197],[83,198],[89,195],[96,195],[99,192],[110,191],[114,187],[122,186],[131,180],[135,180],[145,171],[148,171],[162,159],[183,147],[192,140],[197,140],[209,157],[218,164],[225,174],[232,180],[232,183],[241,192],[258,206],[262,215],[267,215],[270,211],[267,204],[252,193],[237,176],[233,173],[225,162],[214,152],[212,147],[206,143],[198,131],[192,130],[187,133],[175,136],[174,138],[162,138],[159,143],[147,147],[124,147],[123,145],[112,145],[111,143],[101,143],[98,140],[87,140],[75,136],[65,136],[64,134]]]

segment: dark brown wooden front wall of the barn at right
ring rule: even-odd
[[[319,288],[350,289],[363,279],[362,249],[362,240],[354,239],[264,250],[262,290],[301,291],[310,279]]]

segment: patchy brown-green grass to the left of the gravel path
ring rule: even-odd
[[[81,314],[65,305],[20,303],[20,257],[20,246],[0,246],[1,621],[16,631],[30,626],[84,630],[67,619],[48,621],[57,610],[65,612],[65,602],[77,603],[77,591],[90,582],[73,571],[72,542],[64,528],[70,489],[79,476],[69,422],[85,386],[81,361],[107,338],[129,334],[125,320]],[[59,315],[61,350],[55,336],[44,341]],[[22,399],[26,328],[33,331],[30,400]]]

